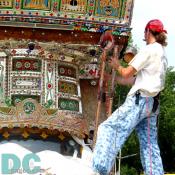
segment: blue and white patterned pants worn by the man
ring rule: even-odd
[[[93,153],[93,170],[107,175],[116,154],[135,129],[140,143],[140,156],[145,175],[163,175],[162,160],[157,143],[157,115],[152,113],[153,98],[128,96],[125,103],[98,127]]]

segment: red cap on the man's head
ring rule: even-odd
[[[145,30],[147,30],[147,29],[152,30],[152,31],[156,31],[159,33],[161,33],[161,32],[167,33],[167,31],[164,30],[163,23],[158,19],[153,19],[153,20],[149,21],[145,27]]]

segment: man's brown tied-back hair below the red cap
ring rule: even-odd
[[[150,32],[155,37],[156,42],[158,42],[162,46],[167,46],[168,45],[167,36],[166,36],[165,32],[156,32],[156,31],[153,31],[153,30],[150,30]]]

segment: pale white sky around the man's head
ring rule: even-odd
[[[135,0],[131,21],[134,44],[145,46],[144,28],[149,20],[159,19],[167,30],[168,46],[166,55],[168,66],[175,67],[175,9],[174,0]]]

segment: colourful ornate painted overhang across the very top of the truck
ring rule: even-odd
[[[130,31],[133,1],[0,0],[0,25],[85,32],[103,32],[106,28],[117,30],[124,26]]]

